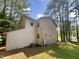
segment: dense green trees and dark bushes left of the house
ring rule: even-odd
[[[0,32],[19,29],[19,20],[23,13],[23,8],[27,8],[25,2],[26,0],[0,1]],[[6,7],[10,8],[10,10],[7,9],[9,12],[6,12]],[[15,14],[17,15],[15,16]]]

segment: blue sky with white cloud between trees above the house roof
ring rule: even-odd
[[[34,19],[42,17],[45,12],[48,0],[29,0],[31,4],[30,16]]]

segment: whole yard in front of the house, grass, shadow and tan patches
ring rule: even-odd
[[[79,46],[58,43],[56,46],[23,48],[9,52],[0,50],[0,59],[79,59]]]

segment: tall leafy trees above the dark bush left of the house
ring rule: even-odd
[[[15,29],[19,29],[17,26],[19,26],[20,16],[23,14],[23,8],[28,7],[26,0],[1,0],[0,3],[2,8],[0,11],[0,19],[15,23]],[[1,24],[3,22],[5,21],[1,20]],[[2,25],[6,25],[6,23]]]

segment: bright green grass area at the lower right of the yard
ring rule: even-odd
[[[72,44],[72,43],[71,43]],[[61,59],[79,59],[79,47],[74,45],[63,45],[51,48],[55,53],[49,53],[50,56],[55,56]]]

